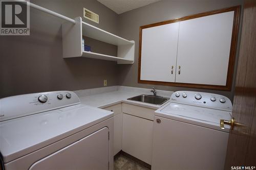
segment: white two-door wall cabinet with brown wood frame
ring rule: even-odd
[[[230,90],[240,6],[140,27],[139,83]]]

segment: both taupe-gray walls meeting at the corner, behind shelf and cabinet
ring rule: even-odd
[[[173,0],[160,1],[121,15],[96,0],[31,0],[32,3],[74,18],[83,15],[82,8],[99,14],[99,24],[84,19],[94,26],[135,40],[135,63],[117,65],[116,62],[88,58],[62,58],[61,23],[63,20],[31,9],[30,36],[0,36],[0,98],[16,94],[51,90],[78,90],[108,85],[151,88],[138,84],[139,27],[195,13],[240,5],[242,0]],[[96,51],[116,54],[116,47],[106,50],[103,43],[90,41]],[[97,47],[97,49],[96,49]],[[236,69],[235,69],[236,70]],[[233,83],[234,85],[234,83]],[[155,85],[154,85],[155,86]],[[214,92],[233,97],[231,91],[155,86],[163,90],[195,90]]]

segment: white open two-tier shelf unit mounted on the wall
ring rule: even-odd
[[[133,64],[135,42],[129,41],[86,22],[81,17],[75,18],[76,23],[62,24],[63,58],[88,57],[101,60],[117,61],[117,64]],[[109,44],[117,45],[117,57],[105,54],[86,52],[82,49],[82,36],[87,36]]]

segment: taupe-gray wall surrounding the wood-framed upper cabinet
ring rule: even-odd
[[[133,65],[118,65],[119,69],[119,85],[133,86],[142,88],[151,88],[162,90],[193,90],[212,92],[226,95],[231,100],[233,99],[234,81],[236,77],[237,65],[233,75],[233,87],[231,91],[207,90],[197,88],[183,88],[173,86],[158,86],[138,83],[138,56],[139,56],[139,27],[150,23],[160,22],[164,20],[174,19],[191,14],[222,9],[231,6],[241,5],[240,0],[163,0],[154,4],[147,5],[129,12],[120,14],[119,20],[119,35],[129,40],[135,40],[135,62]],[[239,38],[240,39],[240,38]],[[239,41],[240,42],[240,41]],[[239,45],[238,45],[239,47]],[[237,50],[238,54],[238,50]],[[237,57],[238,58],[238,57]],[[237,63],[237,61],[236,61]],[[154,63],[153,63],[154,66]]]

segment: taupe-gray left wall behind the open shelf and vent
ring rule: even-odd
[[[83,18],[85,7],[99,14],[99,24],[84,18],[83,21],[117,34],[118,15],[96,0],[31,2],[71,18]],[[101,87],[103,79],[108,80],[108,85],[118,84],[115,62],[63,59],[61,23],[65,21],[32,8],[30,12],[30,36],[0,36],[0,98],[40,91]],[[93,48],[95,43],[90,43]],[[107,53],[116,53],[116,48],[112,48],[114,52]]]

